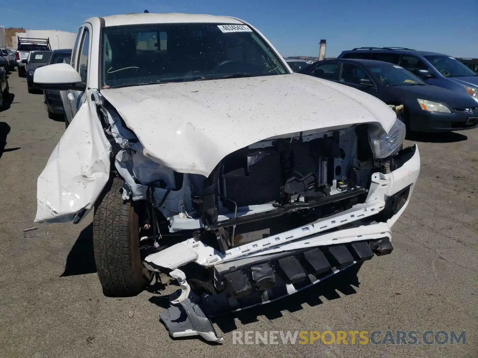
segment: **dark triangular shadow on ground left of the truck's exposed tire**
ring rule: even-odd
[[[93,253],[93,223],[91,223],[80,232],[66,257],[65,271],[60,277],[94,273],[96,264]]]

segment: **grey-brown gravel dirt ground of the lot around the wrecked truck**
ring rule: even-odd
[[[394,226],[391,255],[282,302],[216,319],[222,345],[172,340],[159,322],[167,284],[131,298],[103,296],[91,215],[79,225],[34,225],[36,180],[63,121],[13,72],[0,112],[0,357],[477,357],[478,129],[416,136],[422,168]],[[6,142],[6,143],[5,143]],[[5,144],[4,144],[5,143]],[[41,226],[47,235],[23,239]],[[132,317],[132,318],[131,318]],[[466,331],[454,345],[233,345],[233,330]],[[429,336],[432,338],[433,336]],[[280,340],[280,339],[279,339]],[[419,339],[420,340],[420,339]]]

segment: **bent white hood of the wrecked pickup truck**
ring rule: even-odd
[[[144,147],[178,172],[208,176],[242,147],[289,133],[377,122],[395,113],[355,88],[303,74],[104,89]]]

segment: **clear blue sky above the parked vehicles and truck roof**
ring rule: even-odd
[[[4,0],[0,25],[76,32],[88,17],[145,9],[239,17],[283,56],[317,56],[326,39],[326,56],[360,46],[401,46],[478,57],[478,0]]]

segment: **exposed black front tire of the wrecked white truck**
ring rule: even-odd
[[[123,200],[123,179],[115,175],[95,205],[93,250],[103,294],[109,297],[138,295],[153,278],[140,253],[139,202]]]

